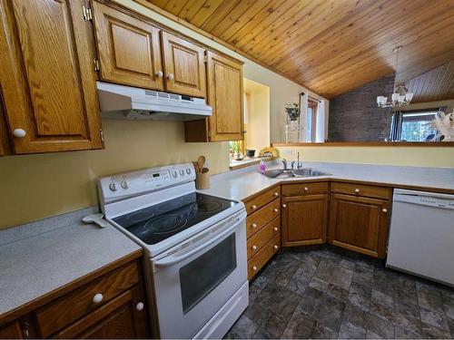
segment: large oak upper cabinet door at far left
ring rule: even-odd
[[[0,84],[15,153],[103,147],[83,0],[0,0]]]

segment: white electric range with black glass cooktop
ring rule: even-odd
[[[249,304],[244,204],[194,180],[192,164],[178,164],[98,181],[105,218],[144,249],[162,338],[221,338]]]

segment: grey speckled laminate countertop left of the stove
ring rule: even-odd
[[[87,212],[78,211],[82,216],[88,215]],[[63,228],[55,228],[59,220],[65,225]],[[69,222],[67,216],[39,224],[34,228],[0,231],[0,318],[80,277],[141,251],[133,240],[112,226],[99,228],[83,224],[80,219]],[[44,232],[36,234],[35,229]]]

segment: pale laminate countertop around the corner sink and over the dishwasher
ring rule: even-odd
[[[200,192],[226,199],[243,200],[279,183],[330,179],[370,182],[392,188],[454,194],[454,169],[322,162],[305,162],[304,167],[322,170],[330,175],[308,178],[269,179],[258,172],[256,166],[252,166],[214,175],[211,180],[211,188],[200,190]],[[277,161],[267,167],[268,170],[278,168],[280,168],[280,163]]]

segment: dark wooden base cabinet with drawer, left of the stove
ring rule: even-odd
[[[15,320],[0,317],[0,338],[149,336],[140,261],[112,266],[116,267],[83,286],[64,287],[63,296],[55,291],[54,298],[44,296],[15,311]]]

